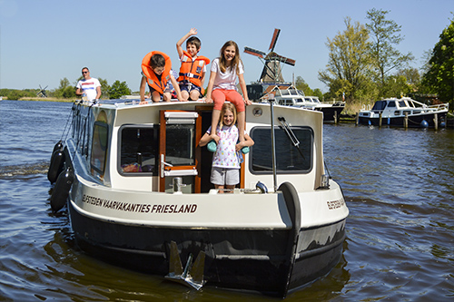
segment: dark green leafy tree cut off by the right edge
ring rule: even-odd
[[[454,18],[439,35],[422,84],[429,87],[429,92],[438,93],[441,102],[450,102],[454,106]]]

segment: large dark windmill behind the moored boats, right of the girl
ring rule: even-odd
[[[264,64],[262,75],[260,77],[261,83],[284,83],[282,77],[281,63],[286,63],[291,66],[295,65],[295,60],[274,53],[274,47],[276,46],[278,36],[280,33],[281,33],[280,29],[277,28],[274,29],[270,49],[268,50],[269,54],[265,54],[261,51],[258,51],[250,47],[244,47],[244,53],[252,54],[259,57],[259,59]]]

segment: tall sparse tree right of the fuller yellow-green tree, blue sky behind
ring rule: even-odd
[[[370,38],[373,41],[370,48],[371,62],[380,83],[380,96],[385,95],[386,76],[394,68],[400,68],[404,64],[413,60],[411,53],[400,54],[394,45],[400,44],[403,37],[400,36],[401,26],[392,20],[386,20],[386,15],[390,11],[378,10],[372,8],[367,12],[367,18],[370,20],[366,28],[370,32]]]

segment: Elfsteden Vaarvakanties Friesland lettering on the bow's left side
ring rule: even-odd
[[[94,205],[96,207],[104,207],[107,209],[116,209],[136,213],[184,214],[194,213],[197,210],[196,204],[154,204],[152,207],[152,205],[150,204],[105,200],[90,195],[82,196],[82,202]]]

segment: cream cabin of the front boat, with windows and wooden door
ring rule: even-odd
[[[270,105],[253,103],[246,110],[246,131],[255,144],[242,155],[238,188],[254,189],[257,181],[272,188]],[[315,190],[323,174],[322,164],[313,168],[322,158],[321,136],[314,136],[321,132],[322,114],[315,113],[314,119],[301,125],[301,115],[294,110],[276,106],[276,119],[287,121],[276,120],[277,175],[295,180],[297,190]],[[93,181],[118,190],[208,193],[214,188],[212,152],[199,146],[211,125],[211,104],[103,102],[78,106],[75,115],[73,128],[80,133],[75,144],[86,157],[85,169]],[[85,120],[94,124],[93,133]],[[292,140],[298,141],[298,147]],[[182,179],[179,188],[176,177]]]

